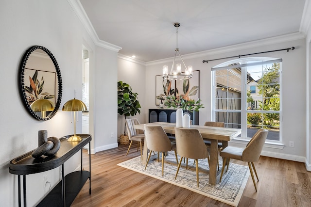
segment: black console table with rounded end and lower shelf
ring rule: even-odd
[[[78,134],[83,138],[79,142],[67,142],[72,136],[68,135],[60,139],[61,144],[57,153],[53,156],[33,158],[30,151],[9,163],[9,172],[18,175],[18,206],[21,206],[21,183],[20,176],[23,175],[23,198],[26,207],[26,175],[40,173],[62,166],[62,180],[43,198],[37,207],[69,207],[81,188],[89,179],[89,194],[91,194],[91,155],[89,154],[89,171],[82,170],[82,148],[92,140],[89,134]],[[81,171],[75,171],[64,176],[64,163],[74,154],[81,150]],[[66,182],[65,182],[66,181]]]

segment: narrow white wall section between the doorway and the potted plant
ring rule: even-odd
[[[117,52],[97,48],[95,70],[90,70],[92,74],[90,82],[93,82],[90,87],[90,90],[93,91],[91,96],[93,110],[90,109],[92,111],[90,119],[94,120],[92,132],[94,149],[91,149],[92,153],[118,147],[117,55]],[[114,134],[113,137],[111,137],[111,133]]]

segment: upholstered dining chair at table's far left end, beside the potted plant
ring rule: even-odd
[[[131,141],[130,145],[128,146],[127,152],[126,152],[126,156],[128,154],[128,152],[130,151],[131,145],[133,143],[133,141],[137,141],[138,143],[140,143],[140,157],[142,159],[142,142],[145,139],[145,134],[143,130],[139,130],[139,129],[135,129],[134,125],[139,125],[139,121],[136,118],[132,118],[132,119],[125,119],[125,126],[126,126],[126,130],[127,130],[127,134],[128,134],[128,139]],[[137,146],[138,147],[138,146]],[[138,148],[137,148],[138,150]]]

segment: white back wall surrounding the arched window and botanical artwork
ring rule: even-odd
[[[200,70],[200,99],[205,108],[200,109],[200,125],[211,120],[211,67],[226,62],[230,59],[210,61],[207,64],[203,60],[211,60],[228,56],[243,55],[255,52],[277,50],[295,47],[287,52],[271,52],[258,57],[282,58],[283,68],[283,121],[282,139],[283,149],[264,147],[263,155],[305,161],[306,157],[306,59],[305,38],[301,34],[283,36],[263,41],[237,45],[227,48],[219,48],[205,53],[183,55],[186,65],[192,65],[193,70]],[[251,56],[249,56],[251,57]],[[237,58],[233,58],[237,59]],[[146,120],[148,120],[148,109],[155,108],[155,75],[162,73],[164,63],[172,63],[167,60],[147,63],[146,66]],[[300,120],[300,121],[297,121]],[[289,141],[294,141],[294,148],[289,147]],[[230,143],[233,145],[233,143]],[[245,143],[235,143],[237,146],[245,146]]]

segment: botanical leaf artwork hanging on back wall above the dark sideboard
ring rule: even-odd
[[[166,96],[183,96],[186,100],[198,100],[200,71],[193,71],[191,79],[165,80],[162,75],[155,76],[155,105],[159,105]]]

